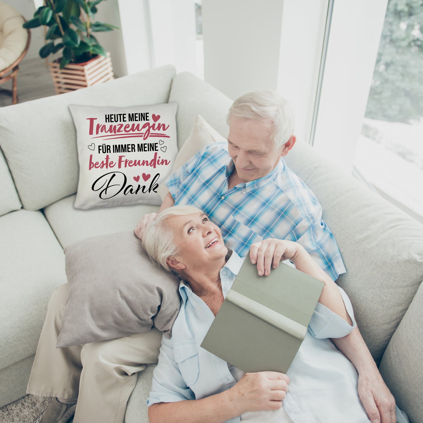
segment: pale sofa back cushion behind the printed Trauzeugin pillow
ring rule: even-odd
[[[41,209],[77,190],[76,133],[69,104],[128,107],[166,103],[174,74],[173,66],[164,66],[72,93],[4,107],[0,113],[0,146],[24,208]]]

